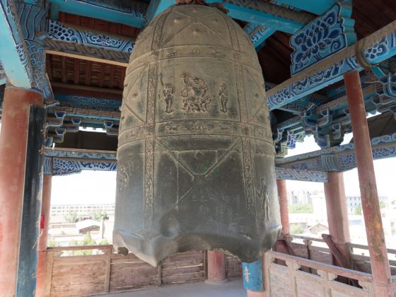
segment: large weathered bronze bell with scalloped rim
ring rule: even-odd
[[[173,6],[139,35],[124,83],[113,244],[260,258],[280,231],[262,70],[218,8]]]

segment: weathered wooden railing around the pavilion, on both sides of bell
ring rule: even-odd
[[[355,270],[344,269],[332,265],[330,250],[321,238],[292,237],[289,244],[296,257],[279,252],[266,254],[264,275],[269,296],[373,296],[368,256],[353,253]],[[368,249],[365,245],[350,246],[352,252]],[[93,255],[73,255],[88,250],[93,250]],[[388,249],[388,252],[396,255],[396,250]],[[226,257],[226,263],[228,278],[241,276],[238,260]],[[395,272],[396,261],[390,260],[390,264]],[[337,276],[354,279],[362,288],[335,281]],[[151,267],[131,253],[116,254],[112,245],[48,248],[45,296],[83,296],[204,279],[206,252],[202,250],[178,253],[168,257],[160,267]],[[396,275],[392,281],[396,284]]]

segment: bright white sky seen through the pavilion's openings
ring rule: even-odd
[[[351,134],[344,137],[344,143],[349,143]],[[309,151],[316,151],[313,136],[305,137],[304,142],[298,142],[296,148],[289,150],[288,156],[294,156]],[[396,198],[395,168],[396,158],[374,161],[378,194]],[[357,170],[344,173],[345,192],[347,196],[359,196],[359,179]],[[288,190],[323,190],[320,182],[298,182],[288,180]],[[90,171],[52,177],[52,204],[102,204],[115,202],[116,173],[109,171]]]

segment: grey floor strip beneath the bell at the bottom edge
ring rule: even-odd
[[[233,279],[224,284],[191,283],[161,286],[134,292],[110,293],[98,297],[245,297],[242,279]]]

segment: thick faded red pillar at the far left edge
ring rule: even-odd
[[[35,91],[7,87],[0,134],[0,292],[16,294],[29,107],[42,104]]]

